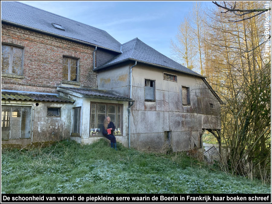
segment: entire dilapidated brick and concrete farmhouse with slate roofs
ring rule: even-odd
[[[140,39],[20,2],[2,2],[2,146],[102,138],[110,116],[127,147],[202,151],[220,139],[222,101],[204,76]]]

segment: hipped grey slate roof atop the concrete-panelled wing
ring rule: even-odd
[[[177,71],[182,71],[188,74],[203,77],[202,75],[184,67],[183,65],[177,63],[176,61],[161,54],[160,52],[148,46],[138,38],[134,38],[133,40],[130,40],[122,44],[122,51],[123,53],[117,55],[115,58],[111,59],[105,64],[102,64],[100,67],[97,67],[96,69],[94,69],[94,71],[102,69],[104,67],[108,67],[113,64],[117,64],[118,62],[121,61],[136,60],[139,62],[160,65],[166,68],[171,68]]]

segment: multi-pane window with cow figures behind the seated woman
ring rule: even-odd
[[[122,134],[123,105],[114,103],[91,102],[90,107],[90,135],[102,135],[103,122],[106,116],[111,118],[116,132]],[[120,130],[120,131],[119,131]]]

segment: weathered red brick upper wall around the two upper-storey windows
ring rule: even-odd
[[[2,89],[57,92],[63,55],[79,58],[81,87],[97,88],[94,47],[2,23],[2,44],[24,47],[23,79],[2,76]]]

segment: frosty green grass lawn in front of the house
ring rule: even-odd
[[[183,153],[144,153],[120,143],[117,148],[101,139],[4,149],[2,193],[270,193],[259,180],[210,170]]]

